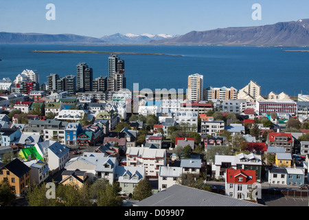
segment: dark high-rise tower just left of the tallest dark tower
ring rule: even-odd
[[[78,91],[92,91],[93,70],[87,63],[78,63],[76,83]]]

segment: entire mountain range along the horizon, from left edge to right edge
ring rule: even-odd
[[[309,46],[309,19],[253,27],[218,28],[183,35],[112,34],[95,38],[76,34],[0,32],[0,44],[100,44],[100,45],[248,45]]]

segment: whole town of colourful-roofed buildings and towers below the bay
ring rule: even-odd
[[[121,206],[271,206],[276,195],[308,205],[308,95],[262,96],[253,81],[205,87],[201,74],[182,93],[135,91],[124,60],[106,62],[98,78],[81,62],[47,84],[32,69],[0,81],[0,182],[14,201],[49,182],[80,190],[106,179]]]

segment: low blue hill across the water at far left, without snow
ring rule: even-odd
[[[0,32],[0,44],[104,43],[101,39],[75,34],[36,34]]]

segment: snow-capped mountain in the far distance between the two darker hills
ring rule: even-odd
[[[144,44],[152,40],[172,39],[178,35],[171,34],[112,34],[103,36],[100,40],[117,44]]]

